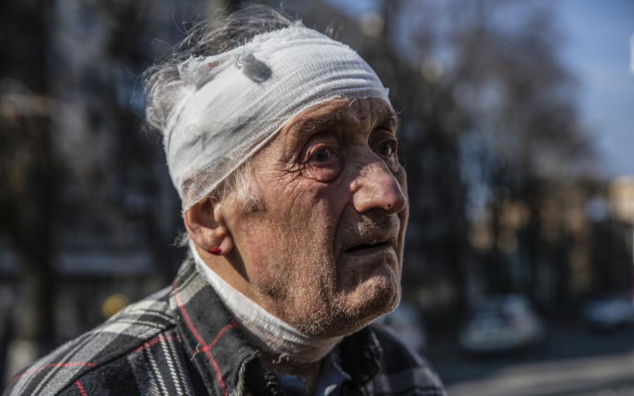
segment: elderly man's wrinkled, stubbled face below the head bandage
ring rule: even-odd
[[[387,103],[307,109],[254,156],[253,173],[262,209],[226,221],[258,303],[323,337],[399,303],[408,205]]]

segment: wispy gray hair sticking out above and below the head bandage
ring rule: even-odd
[[[147,94],[148,128],[163,135],[173,107],[191,90],[187,82],[181,79],[178,65],[193,56],[221,54],[245,45],[258,34],[297,26],[298,23],[300,22],[267,6],[249,6],[227,15],[217,13],[194,22],[187,36],[143,75]],[[252,183],[250,160],[229,175],[211,193],[210,198],[222,201],[231,192],[235,192],[243,210],[261,209],[259,192]]]

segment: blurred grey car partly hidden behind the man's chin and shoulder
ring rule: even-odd
[[[426,353],[425,325],[419,310],[413,304],[401,301],[396,310],[378,319],[378,323],[389,328],[396,337],[399,337],[399,340],[411,349],[418,353]]]

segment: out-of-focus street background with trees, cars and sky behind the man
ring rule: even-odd
[[[140,75],[240,6],[0,4],[0,383],[175,275]],[[634,2],[283,7],[369,61],[401,117],[403,303],[382,321],[451,395],[634,395]]]

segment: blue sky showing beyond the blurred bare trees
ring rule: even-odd
[[[350,15],[376,0],[329,0]],[[547,0],[541,0],[547,1]],[[576,75],[582,123],[608,177],[634,175],[634,0],[552,1],[566,44],[562,60]]]

